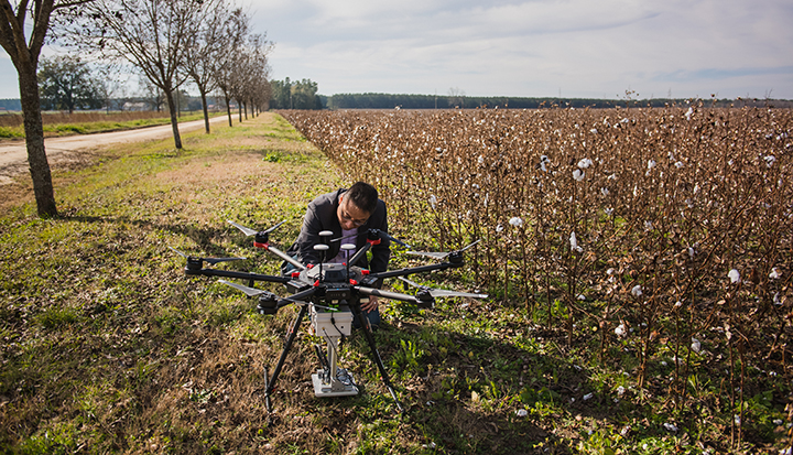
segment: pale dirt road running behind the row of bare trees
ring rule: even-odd
[[[218,116],[209,119],[210,123],[228,121],[228,117]],[[180,123],[180,132],[204,128],[204,120]],[[173,134],[171,124],[141,128],[137,130],[104,132],[98,134],[79,134],[65,138],[44,140],[47,160],[51,164],[59,161],[74,160],[79,151],[120,142],[139,142],[169,138]],[[28,170],[28,150],[24,141],[0,142],[0,185],[10,183],[11,176]]]

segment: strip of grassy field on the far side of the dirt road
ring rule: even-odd
[[[209,117],[222,116],[225,112],[210,113]],[[8,115],[0,117],[0,139],[24,139],[24,127],[22,116]],[[200,120],[203,112],[183,113],[180,122]],[[167,112],[121,112],[121,113],[96,113],[75,112],[73,115],[42,115],[44,121],[44,137],[64,137],[74,134],[93,134],[99,132],[133,130],[137,128],[155,127],[170,124],[171,118]]]

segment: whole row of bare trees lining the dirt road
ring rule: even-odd
[[[250,18],[226,0],[0,0],[0,45],[19,75],[28,161],[40,216],[56,216],[44,150],[37,69],[45,42],[57,41],[89,58],[131,64],[165,96],[176,149],[182,148],[175,90],[192,79],[202,95],[219,90],[251,112],[270,98],[271,43],[251,31]],[[32,24],[32,28],[30,25]],[[228,110],[229,124],[231,111]]]

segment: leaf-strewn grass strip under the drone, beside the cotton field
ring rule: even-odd
[[[278,261],[226,220],[268,227],[286,219],[271,236],[284,249],[305,205],[348,182],[276,115],[183,139],[180,152],[167,140],[130,144],[97,152],[86,167],[56,170],[59,218],[36,218],[29,198],[4,206],[0,451],[729,451],[732,410],[718,383],[692,378],[699,402],[711,405],[675,411],[663,397],[667,354],[654,358],[651,384],[640,390],[634,371],[590,355],[591,327],[578,327],[568,346],[566,331],[539,328],[520,302],[383,305],[376,338],[404,414],[360,334],[340,358],[362,393],[315,398],[311,336],[301,333],[269,413],[263,369],[274,366],[296,311],[260,316],[242,294],[185,277],[183,259],[167,247],[242,256],[250,259],[218,267],[275,273]],[[409,259],[397,253],[393,262]],[[423,279],[471,279],[461,273]],[[749,400],[754,433],[732,452],[785,446],[790,421],[768,397]]]

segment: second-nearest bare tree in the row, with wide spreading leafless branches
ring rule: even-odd
[[[70,28],[69,44],[106,58],[127,59],[165,94],[176,149],[182,149],[174,90],[187,43],[206,13],[204,0],[95,0]]]

